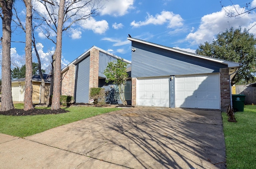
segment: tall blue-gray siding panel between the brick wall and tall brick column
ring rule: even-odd
[[[76,64],[75,101],[88,103],[89,101],[90,56]]]

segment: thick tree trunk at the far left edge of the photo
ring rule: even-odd
[[[11,83],[12,0],[0,0],[2,8],[2,103],[0,111],[14,109]]]

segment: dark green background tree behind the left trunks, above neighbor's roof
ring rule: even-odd
[[[32,76],[38,75],[38,63],[32,63]],[[42,73],[45,73],[45,70],[42,69]],[[20,79],[26,76],[26,65],[23,65],[20,69],[15,67],[12,70],[12,79]]]

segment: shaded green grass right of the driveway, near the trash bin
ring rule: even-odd
[[[228,122],[222,113],[228,169],[256,168],[256,106],[244,106],[244,112],[236,112],[237,122]]]

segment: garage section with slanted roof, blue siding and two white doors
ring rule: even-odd
[[[239,63],[128,37],[132,41],[132,105],[226,109]]]

